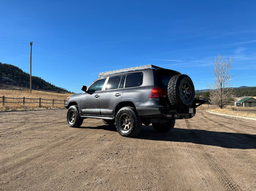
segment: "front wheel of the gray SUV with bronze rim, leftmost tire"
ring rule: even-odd
[[[79,116],[78,106],[72,105],[67,110],[67,124],[69,127],[80,127],[83,119]]]

